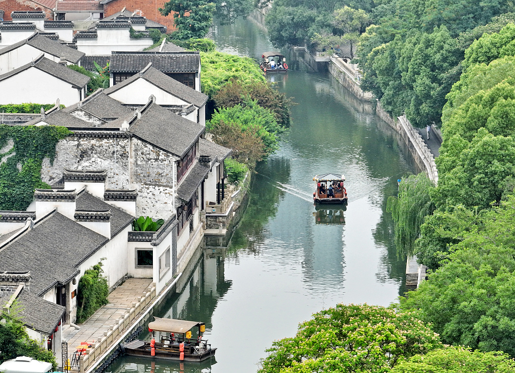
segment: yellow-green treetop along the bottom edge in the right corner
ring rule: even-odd
[[[503,352],[471,351],[464,347],[438,348],[401,362],[391,373],[511,373],[515,362]]]

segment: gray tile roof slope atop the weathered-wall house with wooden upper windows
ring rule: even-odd
[[[204,132],[204,126],[151,104],[141,118],[134,120],[129,131],[136,137],[164,151],[184,156]]]

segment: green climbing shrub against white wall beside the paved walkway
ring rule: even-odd
[[[97,309],[108,304],[109,285],[100,260],[84,271],[77,287],[77,324],[86,321]]]

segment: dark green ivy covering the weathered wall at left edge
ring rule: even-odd
[[[44,158],[54,161],[56,145],[71,132],[65,127],[0,125],[0,210],[25,210],[41,181]]]

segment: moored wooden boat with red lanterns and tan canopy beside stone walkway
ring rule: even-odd
[[[202,339],[205,324],[196,321],[162,319],[154,316],[148,324],[151,341],[135,340],[122,344],[122,351],[129,356],[179,361],[204,361],[215,356],[207,340]],[[197,338],[192,339],[195,328]]]

